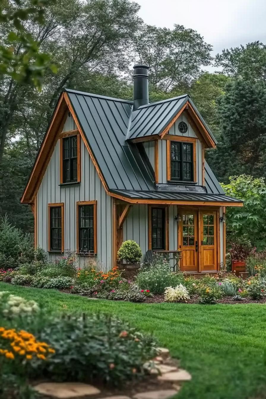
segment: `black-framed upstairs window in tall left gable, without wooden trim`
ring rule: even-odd
[[[63,183],[77,182],[77,136],[63,138]]]

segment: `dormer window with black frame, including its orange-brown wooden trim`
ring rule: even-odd
[[[196,140],[167,136],[167,181],[196,182]]]

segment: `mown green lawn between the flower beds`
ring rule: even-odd
[[[179,399],[265,398],[266,306],[133,304],[0,283],[49,308],[108,312],[152,332],[192,375]]]

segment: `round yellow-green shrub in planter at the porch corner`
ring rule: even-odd
[[[124,241],[117,253],[117,259],[120,261],[118,267],[126,277],[130,277],[138,272],[141,258],[142,252],[136,241]]]

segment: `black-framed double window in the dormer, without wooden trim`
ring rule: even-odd
[[[193,182],[193,144],[171,141],[171,180]]]

